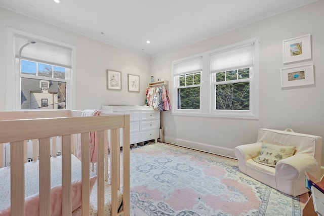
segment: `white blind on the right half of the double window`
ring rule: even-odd
[[[253,66],[254,44],[211,54],[211,72]]]

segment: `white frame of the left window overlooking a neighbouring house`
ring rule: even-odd
[[[6,111],[20,111],[20,91],[21,91],[21,84],[20,80],[21,77],[26,78],[36,78],[42,79],[42,77],[37,77],[28,74],[21,74],[20,73],[20,64],[19,59],[15,57],[15,36],[19,35],[21,37],[33,39],[39,42],[43,42],[45,44],[50,44],[53,46],[65,47],[71,49],[71,69],[69,69],[69,74],[66,74],[64,82],[66,82],[66,110],[75,109],[75,86],[76,86],[76,47],[70,44],[66,44],[64,42],[60,42],[57,40],[49,39],[47,37],[27,33],[18,29],[14,29],[11,27],[6,27],[7,32],[7,48],[6,48]],[[30,61],[29,59],[25,59]],[[33,61],[33,60],[32,60]],[[40,63],[45,63],[39,61]],[[30,77],[32,76],[32,77]],[[50,79],[47,80],[54,80],[57,81],[56,78],[47,77]],[[60,79],[63,81],[63,79]],[[32,110],[24,110],[24,111],[32,111]],[[39,111],[39,110],[38,110]],[[47,110],[49,111],[49,109]]]

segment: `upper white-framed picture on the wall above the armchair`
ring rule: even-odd
[[[282,41],[284,64],[312,58],[310,34]]]

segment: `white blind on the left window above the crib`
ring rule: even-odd
[[[16,58],[26,59],[29,61],[43,62],[51,65],[61,66],[65,68],[72,67],[71,53],[72,49],[59,45],[51,45],[47,42],[36,41],[35,44],[28,44],[31,41],[20,35],[15,35],[15,56]],[[22,50],[20,50],[24,45]],[[21,56],[19,53],[21,51]]]

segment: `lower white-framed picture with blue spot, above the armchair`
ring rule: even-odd
[[[314,84],[313,63],[281,68],[281,88]]]

